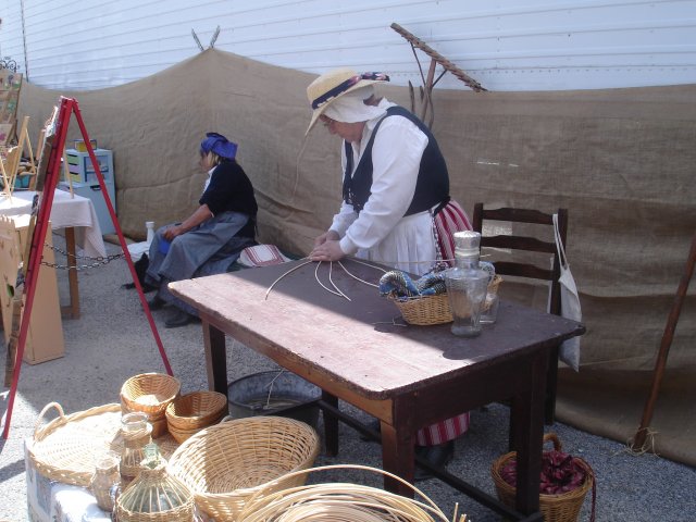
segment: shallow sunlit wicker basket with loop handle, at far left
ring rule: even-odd
[[[59,417],[40,427],[44,415],[57,409]],[[104,405],[65,415],[58,402],[41,410],[27,458],[52,481],[88,487],[97,462],[109,451],[120,452],[121,409]]]

